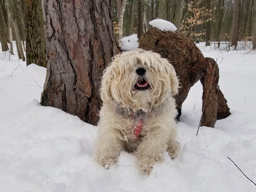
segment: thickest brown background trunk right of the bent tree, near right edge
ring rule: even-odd
[[[233,20],[232,20],[232,26],[231,26],[231,46],[237,46],[237,40],[238,40],[238,21],[239,21],[239,7],[240,3],[239,0],[234,0],[233,4]]]

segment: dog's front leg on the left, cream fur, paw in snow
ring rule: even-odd
[[[100,128],[100,125],[99,125]],[[95,161],[105,167],[116,163],[120,151],[123,149],[123,142],[117,137],[117,133],[112,128],[102,128],[98,132],[95,143]]]

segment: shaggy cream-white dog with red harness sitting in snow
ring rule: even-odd
[[[116,55],[102,78],[95,161],[108,168],[120,151],[134,152],[141,173],[150,174],[164,151],[177,156],[172,96],[178,88],[174,68],[159,54],[136,49]]]

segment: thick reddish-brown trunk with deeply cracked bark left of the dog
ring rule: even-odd
[[[42,0],[47,73],[41,104],[96,125],[102,72],[119,52],[109,0]]]

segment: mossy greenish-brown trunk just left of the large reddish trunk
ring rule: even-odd
[[[27,65],[46,67],[46,45],[41,0],[26,0]]]

